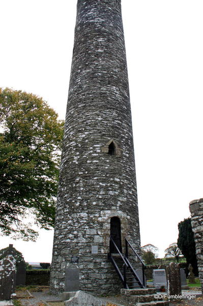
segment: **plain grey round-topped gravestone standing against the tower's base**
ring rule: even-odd
[[[79,269],[75,265],[66,268],[65,292],[79,290]]]

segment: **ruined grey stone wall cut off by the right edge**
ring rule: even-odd
[[[201,291],[203,293],[203,199],[190,202],[191,224],[197,255]]]

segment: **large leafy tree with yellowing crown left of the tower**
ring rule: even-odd
[[[54,224],[64,122],[32,93],[0,88],[0,229],[35,240]],[[26,215],[27,214],[27,215]]]

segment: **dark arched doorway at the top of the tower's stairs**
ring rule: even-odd
[[[114,243],[122,252],[121,246],[121,221],[118,217],[112,217],[110,220],[110,236],[113,239]],[[110,253],[118,253],[118,250],[115,248],[113,243],[110,241]]]

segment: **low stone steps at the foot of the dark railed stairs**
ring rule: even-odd
[[[121,295],[134,306],[168,306],[169,302],[155,298],[156,289],[121,289]]]

